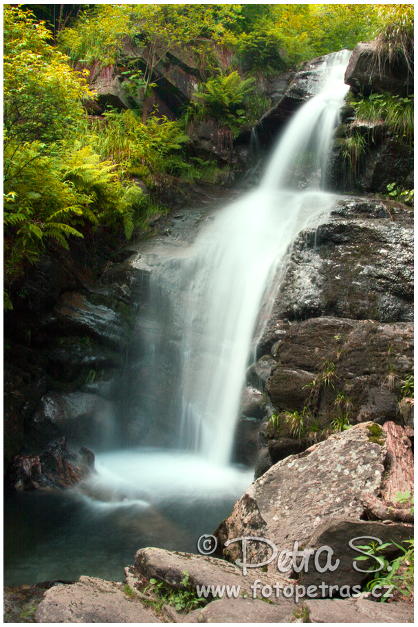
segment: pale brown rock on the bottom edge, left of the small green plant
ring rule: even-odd
[[[139,599],[126,595],[122,584],[80,577],[75,584],[54,586],[35,614],[36,623],[158,623]]]

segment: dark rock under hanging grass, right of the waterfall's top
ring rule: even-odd
[[[414,80],[404,56],[391,63],[380,63],[375,44],[358,43],[351,54],[344,81],[357,94],[369,96],[372,91],[389,91],[406,96],[414,89]]]

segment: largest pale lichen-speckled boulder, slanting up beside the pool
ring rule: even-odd
[[[370,429],[372,428],[372,430]],[[225,558],[241,557],[241,542],[225,547],[232,538],[254,536],[274,543],[278,552],[306,544],[320,525],[331,520],[360,522],[360,498],[380,492],[386,459],[385,432],[373,436],[373,423],[362,423],[334,434],[305,452],[279,461],[256,479],[236,502],[232,514],[215,536]],[[260,564],[272,550],[261,542],[248,542],[247,562]],[[278,574],[273,561],[268,572]],[[261,577],[261,569],[253,569]]]

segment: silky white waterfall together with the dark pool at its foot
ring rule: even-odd
[[[318,95],[293,116],[257,190],[207,220],[188,248],[164,257],[151,243],[135,396],[126,391],[121,412],[134,417],[127,439],[142,448],[96,455],[98,474],[76,489],[14,495],[9,585],[81,574],[118,580],[141,547],[194,551],[252,481],[251,469],[228,465],[245,368],[292,241],[331,206],[320,188],[348,59],[328,56]]]

